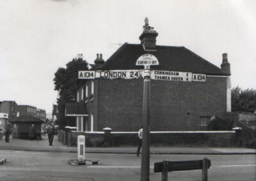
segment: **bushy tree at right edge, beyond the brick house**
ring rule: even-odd
[[[232,112],[255,112],[256,111],[256,90],[242,90],[235,87],[231,90]]]

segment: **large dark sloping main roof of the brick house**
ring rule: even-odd
[[[145,51],[142,45],[125,43],[100,67],[108,69],[144,69],[136,66],[137,59],[143,54],[157,57],[159,66],[152,69],[203,73],[206,75],[228,75],[218,66],[211,64],[185,47],[156,46],[155,52]]]

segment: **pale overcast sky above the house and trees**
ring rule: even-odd
[[[157,45],[184,46],[220,67],[232,87],[256,89],[256,1],[0,1],[0,101],[52,111],[54,73],[77,54],[106,60],[118,43],[140,43],[145,17]]]

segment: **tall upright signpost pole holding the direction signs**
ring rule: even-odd
[[[141,156],[141,181],[149,180],[149,103],[150,103],[150,66],[145,66],[143,92],[143,133]]]

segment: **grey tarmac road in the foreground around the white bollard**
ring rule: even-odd
[[[131,154],[86,154],[86,159],[100,160],[99,165],[70,166],[68,159],[76,153],[25,152],[0,150],[0,180],[140,180],[141,157]],[[207,157],[212,166],[209,180],[256,180],[255,155],[152,155],[150,180],[161,180],[161,173],[154,173],[154,163],[194,160]],[[168,180],[201,180],[202,171],[175,171],[168,173]]]

